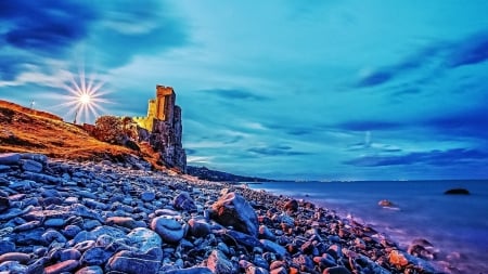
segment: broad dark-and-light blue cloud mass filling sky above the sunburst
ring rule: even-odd
[[[1,1],[0,73],[3,80],[25,70],[50,74],[56,61],[70,69],[85,62],[106,71],[140,54],[188,42],[183,21],[160,1]],[[10,56],[10,58],[8,57]],[[76,56],[76,57],[74,57]],[[13,64],[12,64],[13,63]],[[33,66],[34,65],[34,66]]]

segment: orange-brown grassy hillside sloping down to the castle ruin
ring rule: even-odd
[[[158,167],[158,155],[141,145],[141,152],[101,142],[82,127],[61,117],[0,100],[0,153],[39,153],[52,158],[124,161],[137,156]]]

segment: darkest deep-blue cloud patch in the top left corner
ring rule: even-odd
[[[0,10],[5,44],[54,56],[86,37],[98,16],[79,1],[2,1]]]

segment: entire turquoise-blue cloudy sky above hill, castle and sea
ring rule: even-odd
[[[486,11],[485,0],[0,1],[0,99],[72,121],[69,90],[85,82],[98,115],[145,116],[164,84],[192,166],[487,179]]]

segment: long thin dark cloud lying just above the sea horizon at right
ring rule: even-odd
[[[409,166],[409,165],[429,165],[448,167],[459,164],[470,164],[474,161],[486,161],[488,153],[471,148],[452,148],[448,151],[431,151],[421,153],[409,153],[396,156],[362,156],[344,164],[356,167],[384,167],[384,166]]]

